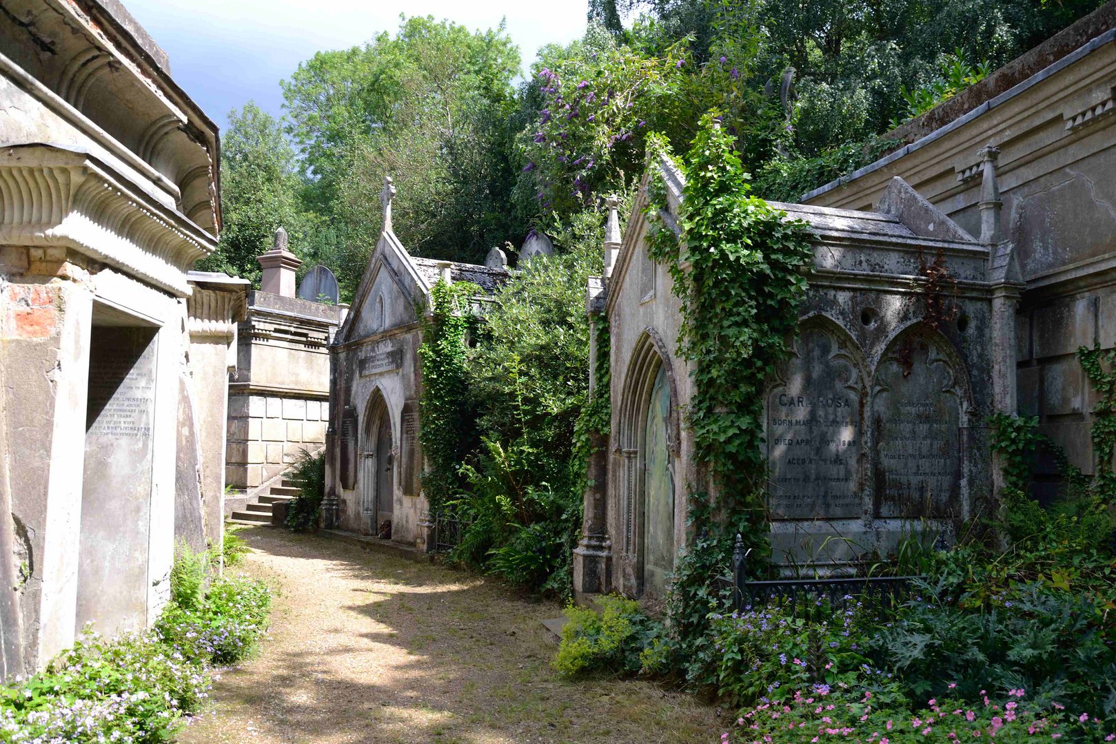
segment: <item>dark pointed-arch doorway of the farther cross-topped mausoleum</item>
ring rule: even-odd
[[[369,534],[392,537],[395,463],[392,417],[377,389],[368,400],[360,444],[360,514]]]

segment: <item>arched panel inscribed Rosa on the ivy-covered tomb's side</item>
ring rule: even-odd
[[[768,394],[768,505],[776,518],[864,513],[858,477],[864,383],[849,345],[829,328],[804,330],[781,384]]]

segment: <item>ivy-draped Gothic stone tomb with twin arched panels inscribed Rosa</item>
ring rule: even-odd
[[[994,224],[995,153],[980,157]],[[676,214],[682,174],[666,158],[652,167]],[[655,600],[692,538],[690,494],[744,486],[713,482],[696,457],[684,415],[695,383],[673,342],[680,301],[647,254],[645,204],[641,191],[622,239],[609,202],[605,274],[588,287],[587,311],[607,319],[613,409],[589,463],[574,584]],[[1016,407],[1011,244],[973,238],[899,178],[872,212],[776,206],[808,223],[814,262],[763,396],[772,561],[788,576],[839,574],[908,538],[951,541],[990,506],[988,417]]]

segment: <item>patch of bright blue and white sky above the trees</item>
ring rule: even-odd
[[[171,74],[218,126],[249,99],[282,113],[279,80],[324,49],[395,33],[400,12],[448,18],[470,29],[507,19],[523,69],[547,44],[585,32],[586,0],[124,0],[171,58]]]

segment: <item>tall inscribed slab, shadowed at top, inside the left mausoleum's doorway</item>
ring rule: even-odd
[[[155,331],[94,326],[89,341],[77,627],[143,627],[155,402]]]

